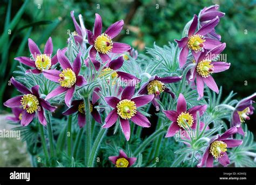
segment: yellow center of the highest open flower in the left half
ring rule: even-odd
[[[113,48],[113,42],[110,36],[106,35],[106,33],[102,33],[102,35],[98,36],[95,39],[94,47],[99,53],[108,53],[111,52]]]

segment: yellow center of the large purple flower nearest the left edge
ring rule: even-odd
[[[37,110],[39,101],[35,95],[25,94],[21,99],[21,104],[23,106],[23,109],[26,109],[26,112],[32,114]],[[21,115],[19,115],[19,119],[21,119],[20,117]]]

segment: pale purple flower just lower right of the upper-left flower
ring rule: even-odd
[[[70,102],[72,100],[73,93],[75,92],[75,87],[86,84],[85,78],[78,75],[81,68],[80,56],[81,53],[78,53],[73,65],[71,66],[70,61],[68,58],[66,58],[65,54],[60,50],[57,51],[57,57],[63,71],[45,70],[43,72],[45,78],[59,84],[55,90],[46,96],[45,100],[66,92],[65,104],[70,107]]]

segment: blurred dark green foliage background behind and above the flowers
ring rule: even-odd
[[[122,34],[116,40],[130,44],[140,53],[146,47],[163,46],[180,39],[185,24],[198,14],[204,6],[220,5],[226,13],[217,26],[222,42],[227,43],[224,53],[231,63],[230,70],[215,74],[218,86],[223,86],[224,95],[237,92],[237,98],[255,92],[256,79],[256,1],[4,1],[0,3],[0,110],[3,102],[17,93],[8,86],[12,71],[17,66],[17,56],[29,56],[28,38],[32,38],[43,50],[44,43],[51,36],[54,53],[66,46],[69,30],[74,31],[70,11],[81,13],[87,29],[92,29],[95,13],[103,19],[103,29],[119,19],[125,20]],[[12,21],[14,20],[14,21]],[[125,30],[130,34],[126,35]],[[8,35],[8,33],[10,33]],[[247,84],[246,84],[247,82]],[[255,114],[251,117],[249,129],[255,131]]]

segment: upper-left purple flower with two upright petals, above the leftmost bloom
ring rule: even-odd
[[[27,70],[26,72],[32,72],[34,74],[42,73],[44,70],[49,70],[52,65],[58,63],[57,55],[51,57],[53,51],[53,45],[51,37],[47,40],[44,53],[42,54],[38,49],[38,46],[32,39],[29,38],[29,50],[32,56],[32,59],[29,57],[16,57],[15,60],[18,60],[20,63],[25,64],[30,67],[35,67],[32,70]],[[66,47],[62,49],[62,52],[66,52]]]

